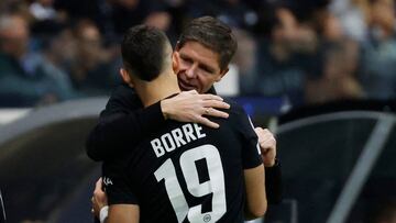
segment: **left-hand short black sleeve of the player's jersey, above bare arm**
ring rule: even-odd
[[[103,163],[102,180],[109,205],[139,204],[124,167],[119,160]]]

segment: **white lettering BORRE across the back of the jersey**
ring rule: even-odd
[[[166,152],[172,152],[187,143],[205,137],[206,134],[202,133],[201,130],[202,127],[197,123],[188,123],[163,134],[161,137],[152,140],[151,145],[156,157],[160,158]]]

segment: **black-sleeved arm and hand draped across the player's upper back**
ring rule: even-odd
[[[218,96],[187,91],[145,109],[140,107],[138,96],[128,86],[122,85],[112,92],[86,142],[87,154],[91,159],[109,160],[125,149],[121,144],[138,144],[145,135],[164,125],[166,119],[218,127],[217,123],[204,115],[228,118],[226,112],[217,109],[228,109],[229,104]]]

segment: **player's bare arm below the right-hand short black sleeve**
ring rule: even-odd
[[[267,209],[264,166],[245,169],[243,174],[246,190],[245,219],[261,218]]]

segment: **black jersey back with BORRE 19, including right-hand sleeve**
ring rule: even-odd
[[[231,108],[218,130],[169,122],[131,149],[121,188],[141,222],[243,222],[243,169],[262,160],[246,114]]]

